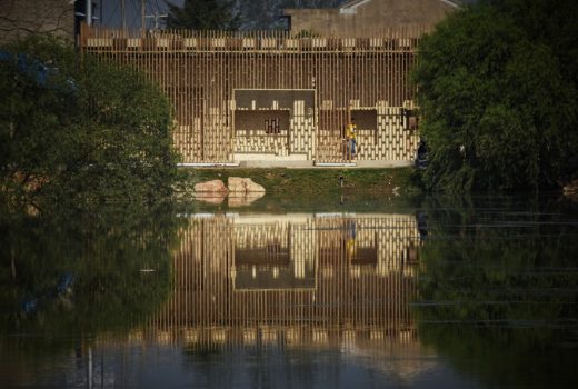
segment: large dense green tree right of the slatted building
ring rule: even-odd
[[[429,189],[538,189],[576,176],[576,17],[569,0],[486,1],[422,40],[412,78]]]

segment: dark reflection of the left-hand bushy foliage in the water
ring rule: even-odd
[[[3,333],[129,329],[168,296],[177,230],[170,206],[0,215]]]

